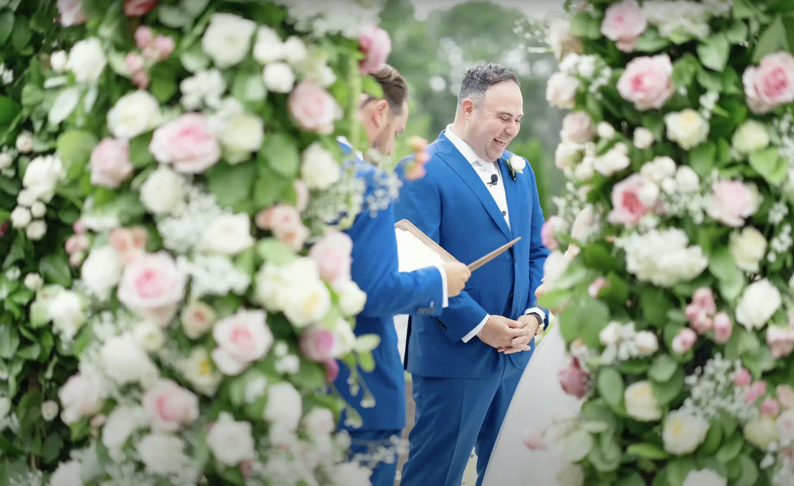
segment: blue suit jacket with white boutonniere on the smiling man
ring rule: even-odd
[[[530,351],[505,355],[478,338],[461,339],[486,314],[516,319],[535,305],[535,289],[549,251],[541,242],[543,214],[534,172],[526,164],[513,180],[506,164],[499,163],[499,183],[505,184],[510,214],[508,227],[488,187],[444,132],[427,150],[427,175],[403,185],[395,206],[398,220],[410,220],[466,264],[516,237],[521,241],[472,272],[467,287],[449,299],[441,316],[411,316],[407,369],[419,376],[468,378],[502,372],[507,359],[525,368],[534,340]],[[512,155],[505,151],[503,158]]]

